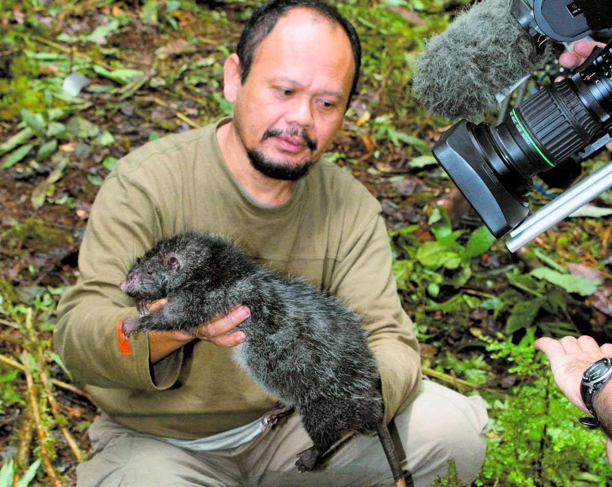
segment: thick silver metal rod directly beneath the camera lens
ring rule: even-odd
[[[546,206],[535,212],[520,226],[510,233],[512,238],[506,242],[511,252],[517,251],[541,233],[571,215],[581,206],[589,203],[612,187],[612,162],[603,166],[591,176],[553,199]]]

